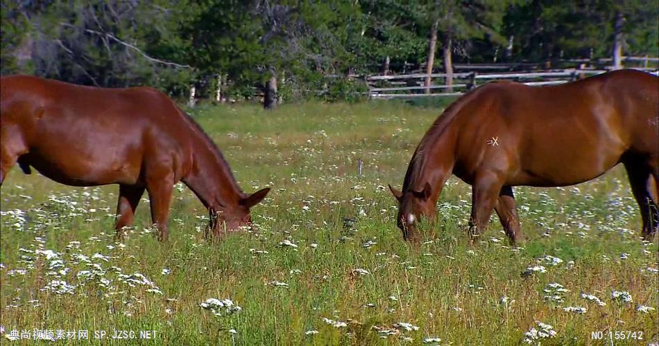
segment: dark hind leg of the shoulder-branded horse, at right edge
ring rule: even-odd
[[[641,212],[642,235],[644,239],[650,240],[659,231],[659,174],[656,168],[647,165],[625,163],[625,168],[632,193]]]

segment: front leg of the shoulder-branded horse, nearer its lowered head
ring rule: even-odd
[[[468,231],[472,241],[475,241],[488,226],[501,188],[502,182],[495,174],[479,174],[472,185],[472,213]]]

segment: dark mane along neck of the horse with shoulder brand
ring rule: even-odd
[[[418,181],[420,178],[423,172],[423,167],[425,166],[425,158],[427,156],[427,152],[429,152],[427,148],[432,147],[432,145],[436,143],[440,136],[444,134],[445,130],[455,118],[456,114],[460,111],[460,109],[462,109],[468,100],[472,99],[472,94],[474,94],[478,89],[480,89],[480,87],[474,91],[471,91],[470,93],[465,93],[464,95],[460,96],[460,98],[450,104],[449,107],[447,107],[442,112],[442,114],[435,119],[432,125],[430,125],[428,131],[426,131],[425,135],[423,135],[423,138],[421,138],[421,142],[416,147],[416,150],[412,155],[412,159],[407,166],[407,172],[405,173],[405,179],[403,181],[403,193],[407,192],[410,189],[411,184],[415,181]]]

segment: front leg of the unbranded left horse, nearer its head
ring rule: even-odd
[[[169,201],[174,182],[171,176],[164,179],[147,179],[146,190],[148,199],[151,201],[151,220],[158,228],[158,240],[161,242],[169,238]]]

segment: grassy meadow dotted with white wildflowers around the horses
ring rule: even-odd
[[[135,339],[117,344],[154,345],[610,345],[609,331],[614,345],[657,343],[659,251],[640,240],[622,167],[576,187],[516,188],[529,237],[518,248],[495,217],[468,243],[470,187],[452,178],[436,238],[402,242],[386,184],[400,187],[439,113],[386,102],[200,107],[243,190],[273,188],[253,230],[216,243],[182,185],[168,243],[151,232],[145,194],[119,244],[116,186],[71,188],[15,167],[0,195],[3,344],[12,329],[60,330],[62,343],[79,342],[66,331],[107,343],[119,330]],[[209,298],[233,305],[203,309]],[[155,339],[140,339],[145,330]]]

